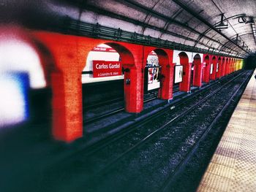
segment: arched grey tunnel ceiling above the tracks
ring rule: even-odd
[[[38,0],[31,9],[243,58],[256,51],[255,0]]]

